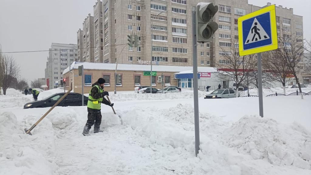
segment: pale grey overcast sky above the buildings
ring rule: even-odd
[[[96,0],[0,0],[0,45],[3,52],[49,50],[51,43],[77,44],[77,31],[93,15]],[[311,0],[248,0],[293,8],[303,16],[304,38],[311,39]],[[49,52],[14,53],[21,77],[44,78]]]

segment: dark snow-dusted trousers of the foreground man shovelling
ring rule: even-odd
[[[91,127],[94,125],[94,133],[100,130],[101,112],[90,111],[87,114],[87,121],[83,129],[84,134],[89,134]]]

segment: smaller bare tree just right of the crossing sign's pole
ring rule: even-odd
[[[280,82],[283,86],[283,93],[286,95],[286,84],[291,80],[290,69],[287,61],[275,50],[262,53],[262,67],[271,72],[272,81]]]

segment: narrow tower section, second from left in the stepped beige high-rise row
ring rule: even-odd
[[[94,62],[94,17],[89,14],[83,21],[82,61]]]

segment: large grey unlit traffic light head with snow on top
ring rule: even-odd
[[[217,22],[213,21],[213,17],[218,12],[218,6],[213,3],[200,2],[196,10],[196,33],[197,42],[202,43],[212,41],[212,36],[218,29]]]

